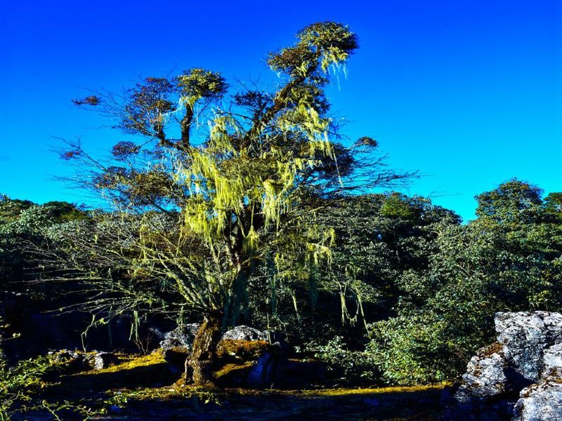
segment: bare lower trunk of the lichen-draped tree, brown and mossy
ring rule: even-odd
[[[185,382],[195,386],[214,386],[213,366],[216,357],[216,345],[221,340],[221,316],[209,314],[204,317],[201,327],[193,340],[190,358],[185,361]]]

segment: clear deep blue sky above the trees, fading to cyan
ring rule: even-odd
[[[210,6],[206,6],[209,4]],[[122,135],[70,103],[81,87],[207,67],[268,79],[266,53],[318,20],[348,24],[360,49],[329,90],[351,138],[370,135],[465,220],[475,194],[517,177],[562,190],[559,0],[0,2],[0,192],[83,201],[52,175],[51,136],[93,150]]]

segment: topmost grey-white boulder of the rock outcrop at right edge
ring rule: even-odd
[[[562,314],[497,313],[495,327],[510,366],[526,380],[538,380],[544,349],[561,341]]]

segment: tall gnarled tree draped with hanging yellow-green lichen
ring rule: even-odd
[[[91,177],[83,184],[124,215],[103,216],[98,227],[111,225],[103,232],[71,229],[61,241],[81,238],[81,247],[67,248],[65,259],[75,275],[136,295],[135,305],[141,290],[145,302],[164,291],[179,298],[178,312],[201,314],[186,365],[197,385],[212,381],[221,325],[243,309],[250,279],[273,286],[308,279],[311,267],[329,261],[333,232],[314,222],[327,199],[410,176],[388,170],[371,138],[351,147],[336,141],[325,87],[356,48],[348,27],[315,23],[294,46],[270,53],[268,65],[281,76],[274,92],[242,87],[221,102],[223,77],[193,68],[174,79],[147,78],[121,97],[74,100],[145,140],[119,142],[110,163],[70,142],[63,157],[86,163]],[[122,301],[110,297],[103,303],[115,310]]]

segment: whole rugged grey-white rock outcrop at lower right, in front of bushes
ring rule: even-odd
[[[510,399],[514,421],[562,421],[562,314],[497,313],[497,342],[469,362],[456,398]],[[515,398],[516,399],[516,398]]]

